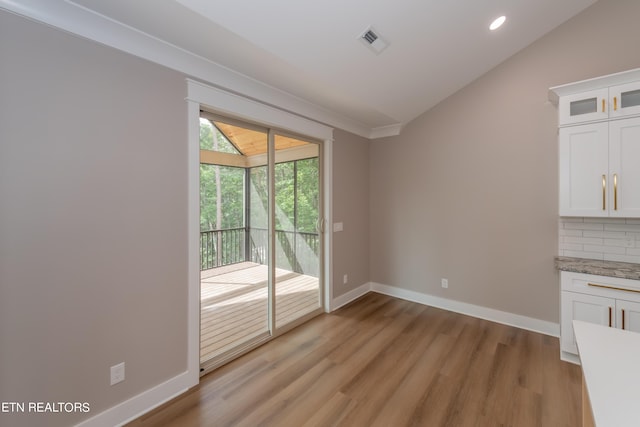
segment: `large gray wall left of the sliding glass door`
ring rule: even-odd
[[[187,368],[186,84],[5,12],[0,58],[0,401],[96,415]]]

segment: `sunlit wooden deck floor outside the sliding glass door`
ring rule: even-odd
[[[267,331],[267,266],[242,262],[200,274],[200,363]],[[320,307],[318,278],[276,269],[276,326]]]

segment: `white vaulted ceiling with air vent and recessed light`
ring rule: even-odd
[[[152,36],[156,42],[178,47],[301,103],[305,108],[298,110],[295,102],[289,107],[301,115],[316,115],[310,118],[375,136],[384,135],[384,129],[390,129],[387,134],[399,132],[407,122],[593,3],[0,0],[0,7],[58,26],[63,26],[59,25],[62,18],[56,15],[86,21],[78,15],[82,12],[108,18],[111,31],[117,23],[129,33]],[[39,7],[42,11],[34,12]],[[489,31],[490,22],[499,15],[507,16],[506,23]],[[370,25],[389,43],[379,55],[359,40]],[[99,34],[82,35],[100,39]]]

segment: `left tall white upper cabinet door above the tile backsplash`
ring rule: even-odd
[[[560,129],[560,216],[608,216],[609,125]]]

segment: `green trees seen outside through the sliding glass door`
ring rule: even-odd
[[[200,121],[200,148],[217,152],[240,154],[233,144],[207,119]],[[319,217],[319,162],[318,158],[278,163],[274,167],[276,230],[288,233],[316,233]],[[247,170],[249,171],[247,174]],[[259,260],[266,255],[268,227],[268,169],[266,166],[249,169],[200,165],[200,230],[214,231],[245,226],[245,180],[249,178],[249,223],[251,238],[256,245]],[[296,245],[291,234],[279,236],[286,247],[288,265],[300,267]],[[299,238],[299,237],[298,237]],[[305,238],[306,239],[306,238]],[[236,260],[240,244],[231,247],[223,241],[222,233],[214,234],[211,248],[203,257]],[[223,246],[224,244],[224,246]],[[317,251],[317,245],[314,246]],[[236,262],[231,261],[231,262]],[[281,261],[284,261],[282,259]],[[214,263],[217,265],[216,263]],[[203,265],[205,261],[203,260]]]

